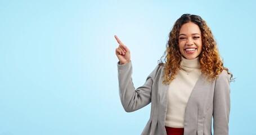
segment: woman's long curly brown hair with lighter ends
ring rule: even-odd
[[[201,65],[201,73],[204,74],[204,78],[207,78],[209,82],[212,82],[223,70],[226,70],[230,75],[230,80],[233,80],[233,75],[223,66],[217,43],[206,22],[200,16],[183,14],[174,23],[173,28],[169,33],[169,40],[164,55],[159,60],[159,65],[164,65],[165,62],[163,83],[169,84],[172,82],[178,71],[181,69],[182,54],[179,51],[178,35],[181,26],[187,22],[194,22],[199,26],[202,33],[203,46],[199,55],[199,62]]]

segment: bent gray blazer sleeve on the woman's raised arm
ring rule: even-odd
[[[143,86],[134,88],[132,82],[132,62],[118,64],[119,96],[127,112],[136,111],[150,104],[152,84],[159,66],[147,77]]]

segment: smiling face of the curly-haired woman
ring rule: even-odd
[[[179,30],[179,51],[186,59],[195,59],[202,51],[202,37],[199,26],[187,22]]]

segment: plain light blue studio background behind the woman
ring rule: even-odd
[[[150,105],[120,103],[114,35],[141,86],[183,13],[200,15],[231,83],[230,134],[255,131],[254,1],[0,1],[0,135],[140,134]]]

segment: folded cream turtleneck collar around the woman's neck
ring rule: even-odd
[[[181,68],[182,69],[200,69],[199,57],[195,59],[188,60],[185,57],[181,57]]]

